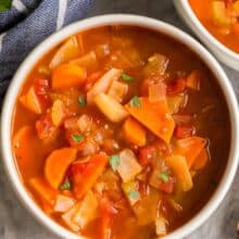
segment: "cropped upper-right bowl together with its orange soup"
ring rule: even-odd
[[[238,71],[238,1],[174,0],[197,37],[227,66]]]

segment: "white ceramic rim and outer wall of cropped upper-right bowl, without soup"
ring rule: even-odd
[[[225,47],[207,32],[207,29],[196,16],[188,0],[174,0],[174,4],[181,18],[188,24],[198,38],[210,49],[210,51],[215,54],[221,62],[231,68],[235,68],[236,71],[239,71],[239,53],[236,53],[229,48]]]

